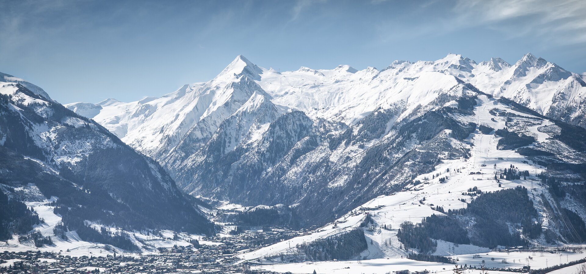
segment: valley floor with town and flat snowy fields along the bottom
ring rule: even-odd
[[[376,234],[381,227],[367,226],[363,230],[366,233]],[[203,238],[199,244],[158,248],[157,251],[145,254],[119,254],[115,251],[100,250],[88,252],[87,255],[68,255],[71,251],[48,252],[40,250],[30,251],[4,251],[0,252],[1,273],[309,273],[315,269],[321,269],[322,273],[384,273],[382,268],[387,268],[383,263],[393,261],[400,267],[411,268],[401,270],[387,268],[387,273],[394,274],[425,274],[425,273],[451,273],[455,268],[466,270],[463,273],[537,273],[532,272],[530,265],[543,268],[546,263],[550,265],[564,266],[574,265],[576,258],[583,258],[586,250],[584,245],[568,245],[560,247],[510,247],[495,249],[484,254],[469,254],[453,256],[455,264],[432,263],[413,261],[407,258],[387,258],[370,260],[349,260],[302,263],[285,263],[282,265],[267,265],[258,261],[243,260],[241,254],[266,248],[277,242],[298,236],[311,236],[311,232],[294,231],[282,228],[269,228],[258,231],[246,231],[237,235],[224,235],[224,237]],[[213,243],[213,244],[210,244]],[[75,253],[74,253],[75,254]],[[498,256],[489,258],[490,256]],[[496,254],[496,255],[495,255]],[[486,256],[486,257],[483,257]],[[469,257],[469,258],[468,258]],[[501,259],[501,257],[503,259]],[[507,262],[505,258],[509,259]],[[527,259],[519,259],[527,258]],[[557,261],[559,259],[559,261]],[[457,260],[457,261],[456,261]],[[481,263],[482,260],[482,263]],[[485,263],[485,260],[488,263]],[[490,260],[490,261],[489,261]],[[523,261],[523,262],[522,262]],[[582,259],[581,261],[585,261]],[[474,263],[472,263],[474,262]],[[346,266],[347,265],[347,266]],[[543,265],[543,266],[542,266]],[[280,268],[282,266],[282,268]],[[341,267],[345,266],[345,267]],[[343,272],[339,272],[342,271]],[[320,273],[320,272],[314,272]]]

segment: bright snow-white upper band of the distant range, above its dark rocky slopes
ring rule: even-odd
[[[175,147],[186,130],[204,119],[209,124],[197,128],[202,134],[213,132],[219,121],[236,112],[234,107],[243,105],[254,91],[282,109],[300,110],[312,119],[355,124],[376,109],[396,105],[406,107],[404,115],[408,115],[458,81],[490,95],[512,99],[548,117],[586,126],[584,75],[532,54],[514,65],[500,58],[478,64],[448,54],[437,61],[394,61],[381,71],[372,67],[358,71],[340,65],[333,70],[301,67],[285,72],[258,67],[238,56],[211,81],[182,86],[161,98],[131,103],[108,99],[95,105],[66,106],[103,124],[132,147],[156,155],[169,149],[155,148],[155,144]],[[233,109],[221,107],[226,103]]]

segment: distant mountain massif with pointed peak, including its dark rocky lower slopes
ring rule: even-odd
[[[380,71],[285,72],[238,56],[209,82],[161,98],[66,106],[155,158],[192,195],[333,217],[465,157],[461,142],[490,122],[474,116],[481,94],[586,126],[584,75],[532,54],[513,65],[448,54]]]

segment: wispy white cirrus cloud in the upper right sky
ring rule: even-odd
[[[374,0],[372,4],[398,4]],[[418,2],[417,9],[393,13],[382,19],[380,42],[407,37],[439,36],[462,30],[488,29],[503,39],[539,39],[541,48],[586,43],[586,2],[582,0],[458,0]]]

